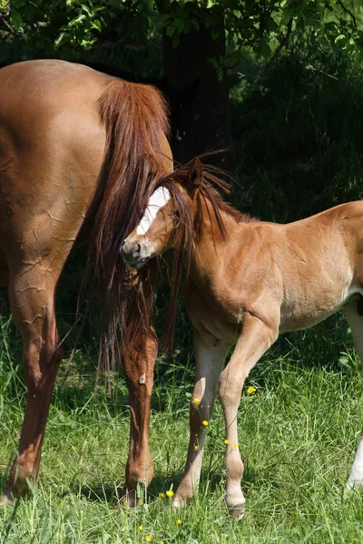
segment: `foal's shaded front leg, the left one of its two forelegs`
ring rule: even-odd
[[[207,343],[196,329],[194,346],[197,368],[191,397],[191,438],[185,471],[173,500],[174,506],[180,506],[183,501],[191,500],[194,489],[198,486],[206,437],[206,429],[202,422],[211,420],[218,380],[230,348],[230,345],[218,341],[215,345]]]

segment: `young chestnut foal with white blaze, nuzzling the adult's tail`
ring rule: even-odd
[[[175,248],[189,272],[184,295],[194,325],[196,382],[191,439],[174,505],[190,500],[215,390],[226,427],[226,503],[244,512],[237,414],[243,383],[284,331],[314,325],[339,308],[363,361],[363,201],[342,204],[288,225],[250,219],[221,201],[228,186],[201,162],[159,180],[140,225],[123,243],[123,259],[142,267]],[[230,362],[223,363],[236,343]],[[348,487],[363,486],[363,440]]]

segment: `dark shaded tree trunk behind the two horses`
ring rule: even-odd
[[[172,47],[165,33],[162,36],[164,78],[178,97],[172,101],[172,152],[182,163],[231,145],[227,78],[220,80],[209,62],[210,58],[218,61],[226,52],[224,15],[220,14],[217,39],[212,39],[211,29],[203,24],[199,30],[181,34],[177,47]],[[230,150],[207,161],[231,170],[231,155]]]

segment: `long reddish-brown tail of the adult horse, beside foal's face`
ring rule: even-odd
[[[131,272],[123,265],[120,247],[142,217],[152,180],[166,173],[162,141],[170,127],[167,104],[151,86],[114,81],[99,108],[106,145],[89,264],[103,298],[100,355],[109,368],[114,367],[120,333],[123,339],[151,334],[152,267]]]

